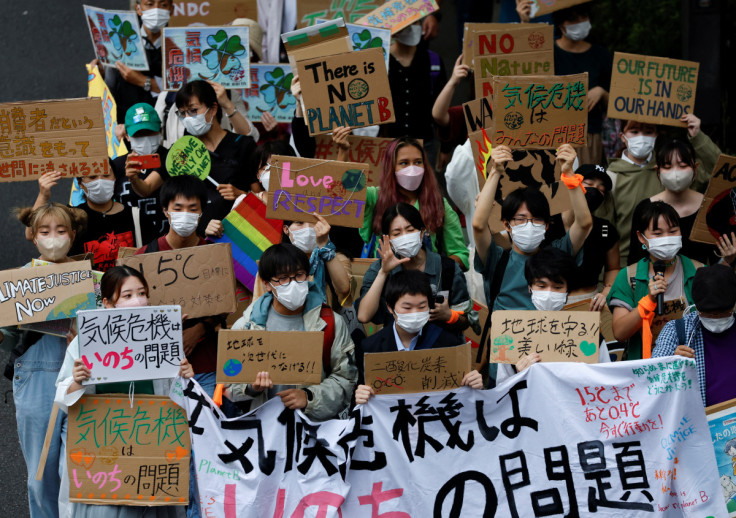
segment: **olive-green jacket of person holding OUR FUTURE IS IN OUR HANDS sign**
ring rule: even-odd
[[[713,173],[721,150],[713,141],[699,131],[690,139],[699,162],[695,172],[693,189],[704,192]],[[603,204],[595,212],[599,218],[607,219],[616,227],[620,236],[619,251],[621,267],[625,267],[629,257],[629,240],[631,239],[632,218],[634,209],[642,200],[651,198],[664,190],[657,178],[654,156],[643,167],[617,158],[608,165],[608,174],[613,180],[613,190],[606,194]]]

